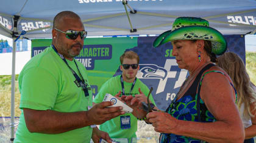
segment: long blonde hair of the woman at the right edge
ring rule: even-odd
[[[247,118],[250,116],[254,117],[255,115],[252,115],[250,104],[255,104],[256,93],[251,87],[251,81],[246,72],[243,60],[235,53],[227,52],[218,57],[216,64],[223,68],[232,79],[238,95],[238,101],[236,103],[238,108],[241,108],[241,104],[244,103],[244,116]],[[256,108],[255,105],[254,107]]]

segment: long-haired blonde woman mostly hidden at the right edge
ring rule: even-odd
[[[254,142],[254,136],[256,136],[255,85],[250,81],[243,60],[235,53],[227,52],[219,56],[217,64],[229,74],[237,91],[236,104],[245,128],[244,142]]]

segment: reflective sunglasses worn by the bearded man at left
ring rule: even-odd
[[[87,36],[87,32],[85,32],[84,30],[83,31],[75,31],[75,30],[68,30],[66,32],[63,32],[62,30],[59,30],[57,28],[54,28],[55,30],[59,31],[59,32],[62,32],[62,33],[65,33],[66,34],[66,38],[68,39],[76,39],[79,35],[80,35],[80,38],[82,40],[84,40]]]

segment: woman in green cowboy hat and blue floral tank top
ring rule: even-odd
[[[136,98],[123,98],[133,115],[152,123],[160,142],[243,142],[244,130],[236,107],[232,81],[213,64],[227,44],[224,36],[201,18],[177,18],[169,30],[158,36],[154,47],[171,42],[172,56],[179,68],[189,71],[176,98],[165,112],[146,113],[135,108]]]

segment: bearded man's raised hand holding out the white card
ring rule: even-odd
[[[117,116],[125,113],[124,111],[121,111],[123,107],[108,107],[111,105],[113,105],[113,102],[105,101],[95,104],[90,110],[86,111],[88,121],[91,122],[91,125],[100,125],[105,121],[116,118]]]

